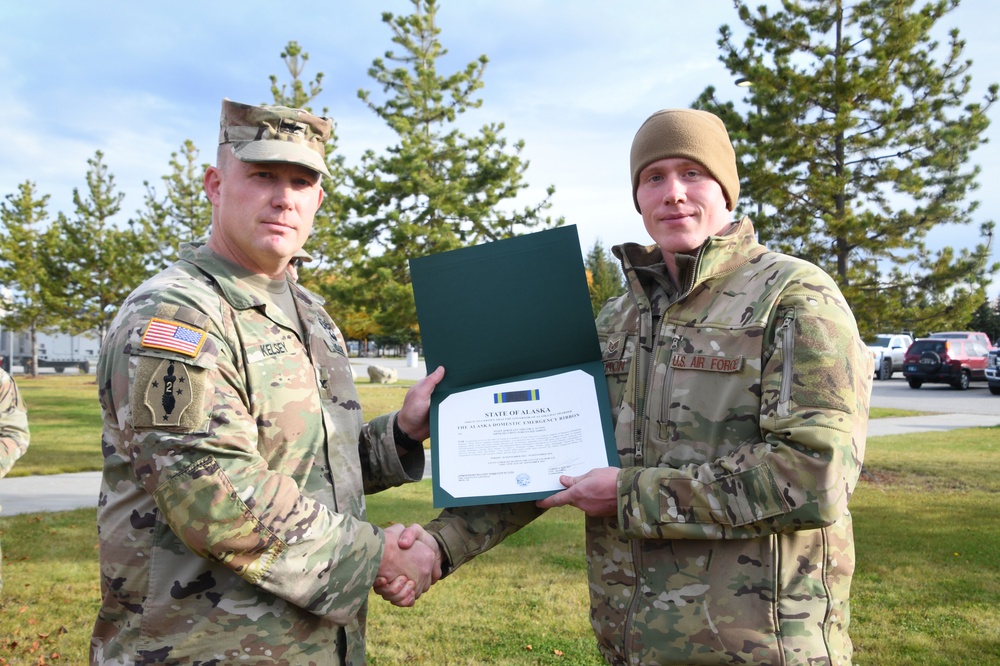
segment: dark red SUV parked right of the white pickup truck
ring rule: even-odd
[[[951,384],[969,388],[971,381],[986,379],[989,351],[977,340],[962,338],[920,338],[906,350],[903,376],[910,388],[925,383]]]

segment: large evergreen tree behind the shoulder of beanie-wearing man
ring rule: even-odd
[[[931,37],[958,0],[734,5],[749,35],[737,41],[722,26],[720,59],[752,84],[753,110],[741,117],[712,88],[696,104],[731,130],[744,207],[766,211],[761,239],[830,272],[865,335],[966,322],[997,270],[988,243],[926,244],[938,225],[973,221],[979,168],[969,160],[997,97],[992,84],[981,102],[968,99],[957,30],[943,49]],[[986,238],[992,228],[981,223]]]

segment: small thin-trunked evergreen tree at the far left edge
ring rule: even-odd
[[[4,328],[28,331],[31,337],[31,374],[38,375],[38,332],[52,327],[57,314],[51,295],[58,289],[45,270],[44,223],[49,195],[38,196],[33,182],[18,186],[0,202],[0,285],[11,290],[12,301],[3,304]]]

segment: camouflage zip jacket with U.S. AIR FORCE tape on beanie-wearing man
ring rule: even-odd
[[[608,663],[850,664],[848,500],[873,368],[834,282],[768,252],[748,219],[683,262],[654,319],[636,268],[598,315],[622,471],[618,515],[587,518],[591,622]],[[530,505],[444,512],[452,567]]]

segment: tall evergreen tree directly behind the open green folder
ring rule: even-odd
[[[452,74],[438,72],[447,53],[438,40],[435,0],[411,0],[408,16],[382,14],[399,52],[376,59],[369,75],[385,94],[358,95],[398,136],[383,154],[367,151],[353,174],[357,215],[345,229],[349,272],[328,285],[338,302],[368,308],[382,339],[417,340],[408,259],[506,238],[562,223],[543,217],[553,188],[521,210],[505,204],[527,187],[523,142],[508,146],[502,123],[467,135],[458,117],[478,108],[486,56]]]

